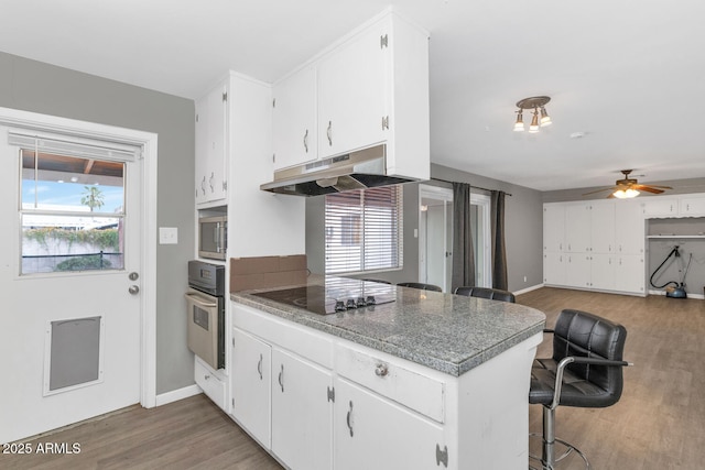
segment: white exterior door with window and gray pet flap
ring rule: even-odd
[[[143,163],[79,140],[0,128],[2,442],[143,396]]]

